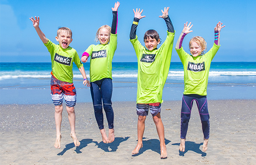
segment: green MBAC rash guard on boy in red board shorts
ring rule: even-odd
[[[78,68],[83,66],[75,49],[70,46],[66,49],[61,48],[60,45],[52,43],[48,39],[48,43],[44,44],[52,60],[52,75],[60,81],[73,83],[73,62]]]

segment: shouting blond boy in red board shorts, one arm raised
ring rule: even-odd
[[[90,87],[90,82],[87,80],[84,66],[81,63],[79,56],[75,49],[71,48],[69,45],[72,42],[72,31],[70,28],[63,27],[59,28],[57,31],[56,41],[59,45],[55,45],[49,39],[46,38],[44,33],[39,28],[39,17],[29,18],[33,22],[33,26],[44,43],[44,45],[49,50],[52,60],[52,78],[51,78],[51,95],[52,101],[55,105],[55,125],[56,125],[56,141],[54,144],[55,148],[61,148],[61,120],[62,120],[62,101],[65,99],[68,119],[70,122],[71,133],[70,136],[73,139],[75,146],[79,146],[80,142],[76,137],[75,131],[75,109],[76,105],[76,88],[73,84],[73,62],[79,68],[84,81],[83,84]]]

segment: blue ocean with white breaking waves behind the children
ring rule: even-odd
[[[90,63],[84,63],[89,78]],[[0,63],[0,104],[52,103],[51,63]],[[91,102],[90,88],[73,65],[77,102]],[[136,101],[137,62],[113,62],[112,101]],[[180,100],[183,95],[183,65],[171,62],[163,89],[163,101]],[[209,72],[208,100],[256,99],[256,62],[212,62]]]

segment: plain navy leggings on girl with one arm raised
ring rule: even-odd
[[[90,85],[90,91],[93,99],[94,115],[98,123],[99,129],[104,129],[102,102],[108,120],[108,128],[113,129],[114,112],[111,102],[113,90],[112,79],[103,78],[101,80],[91,82]]]

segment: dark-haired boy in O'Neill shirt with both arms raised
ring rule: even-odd
[[[134,10],[133,10],[134,11]],[[160,111],[163,87],[169,73],[172,56],[172,46],[175,31],[168,15],[169,7],[162,10],[163,15],[159,16],[166,21],[168,28],[166,41],[157,49],[160,44],[160,37],[157,31],[148,30],[144,35],[145,47],[140,44],[136,36],[136,30],[143,10],[134,11],[134,22],[131,26],[130,41],[134,46],[138,58],[138,89],[137,89],[137,115],[138,115],[138,143],[131,154],[139,153],[143,147],[143,133],[145,130],[145,119],[148,109],[153,116],[157,127],[157,134],[160,139],[161,159],[167,158],[166,144],[164,138],[164,127]]]

